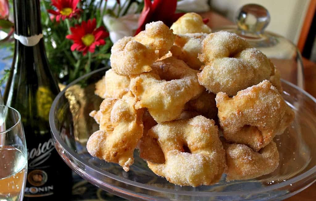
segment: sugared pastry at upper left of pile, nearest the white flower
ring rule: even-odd
[[[112,69],[120,75],[137,75],[151,70],[150,65],[167,54],[175,35],[161,21],[146,24],[135,37],[124,37],[111,49]]]

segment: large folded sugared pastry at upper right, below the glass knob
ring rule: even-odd
[[[198,57],[205,63],[198,74],[198,81],[215,94],[236,95],[238,91],[274,74],[270,60],[234,33],[221,31],[209,34]]]

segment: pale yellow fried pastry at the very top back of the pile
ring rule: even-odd
[[[204,24],[202,17],[196,13],[186,13],[175,21],[170,29],[175,34],[211,33],[209,26]]]

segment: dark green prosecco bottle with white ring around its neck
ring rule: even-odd
[[[21,113],[27,141],[25,201],[70,200],[71,170],[54,148],[48,122],[59,93],[46,58],[40,0],[14,0],[15,52],[3,95]]]

